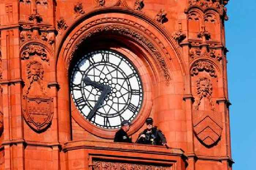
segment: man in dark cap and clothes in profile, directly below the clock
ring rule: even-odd
[[[116,132],[114,142],[125,142],[132,143],[132,139],[128,137],[127,132],[130,129],[130,122],[128,120],[124,120],[121,122],[121,129]]]

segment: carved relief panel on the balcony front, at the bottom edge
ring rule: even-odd
[[[93,170],[171,170],[170,166],[93,161]]]

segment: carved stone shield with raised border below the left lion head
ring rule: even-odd
[[[36,96],[24,97],[24,101],[23,115],[29,126],[37,132],[47,128],[53,117],[53,99]]]

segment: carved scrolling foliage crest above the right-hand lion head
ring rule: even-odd
[[[196,63],[193,64],[190,75],[198,75],[200,71],[206,71],[211,77],[217,77],[215,68],[209,61],[196,61]]]

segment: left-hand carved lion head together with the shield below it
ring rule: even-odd
[[[25,95],[23,95],[23,116],[32,129],[40,132],[46,129],[52,121],[53,98],[46,96],[42,83],[44,69],[41,63],[30,61],[27,64],[26,74],[28,81]],[[31,90],[33,90],[32,95],[30,95]]]

